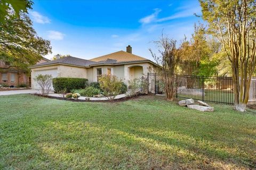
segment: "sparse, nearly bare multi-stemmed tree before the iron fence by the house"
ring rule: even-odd
[[[162,34],[162,37],[154,41],[158,48],[158,55],[150,53],[158,65],[161,65],[160,73],[163,74],[164,91],[167,100],[173,100],[175,96],[175,67],[178,64],[178,56],[176,55],[176,40],[170,39]]]

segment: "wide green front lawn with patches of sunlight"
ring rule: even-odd
[[[253,169],[256,113],[0,96],[0,169]]]

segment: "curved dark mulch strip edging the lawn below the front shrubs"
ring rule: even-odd
[[[116,102],[121,102],[121,101],[127,101],[130,99],[135,99],[138,98],[140,96],[147,96],[147,94],[142,94],[142,95],[138,95],[138,96],[133,96],[133,97],[124,97],[121,99],[114,99],[114,100],[81,100],[81,99],[67,99],[67,98],[63,98],[63,97],[55,97],[55,96],[43,96],[43,95],[39,95],[39,94],[32,94],[35,96],[39,96],[39,97],[45,97],[45,98],[51,98],[51,99],[58,99],[58,100],[67,100],[67,101],[73,101],[73,102],[96,102],[96,103],[116,103]]]

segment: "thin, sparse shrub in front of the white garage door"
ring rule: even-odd
[[[34,80],[37,82],[39,86],[39,93],[41,95],[49,95],[49,92],[51,91],[51,85],[52,85],[52,75],[50,74],[39,74],[37,75]]]

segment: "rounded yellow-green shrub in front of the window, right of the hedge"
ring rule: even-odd
[[[122,80],[115,75],[102,75],[99,79],[100,88],[108,100],[114,100],[116,95],[120,94],[122,87]]]

